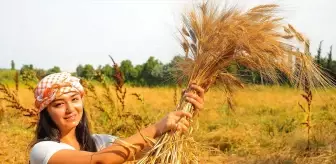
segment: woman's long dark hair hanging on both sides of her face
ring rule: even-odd
[[[56,141],[60,142],[60,131],[55,122],[51,119],[47,109],[43,109],[40,113],[40,120],[36,127],[35,139],[30,147],[33,147],[40,141]],[[95,142],[91,136],[88,119],[83,109],[83,115],[76,127],[76,139],[79,142],[80,149],[84,151],[97,152]]]

